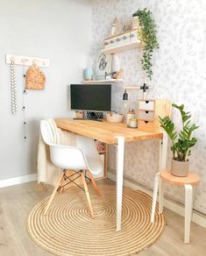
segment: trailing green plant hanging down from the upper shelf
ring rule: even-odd
[[[159,43],[156,37],[156,25],[152,17],[152,12],[147,10],[138,10],[133,15],[139,17],[139,32],[140,39],[145,43],[143,58],[141,60],[142,68],[146,71],[147,77],[151,80],[153,75],[153,50],[159,48]]]

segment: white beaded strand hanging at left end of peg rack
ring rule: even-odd
[[[17,107],[17,89],[16,89],[16,75],[15,75],[15,66],[14,60],[11,60],[10,64],[11,70],[11,113],[13,115],[17,114],[18,107]]]

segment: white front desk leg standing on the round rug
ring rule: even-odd
[[[124,137],[117,137],[117,163],[116,163],[116,175],[117,175],[117,229],[121,230],[122,219],[122,196],[123,196],[123,174],[124,174]]]

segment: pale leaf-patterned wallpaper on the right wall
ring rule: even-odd
[[[160,49],[153,55],[153,89],[149,98],[170,98],[174,103],[184,103],[187,110],[196,112],[200,126],[195,136],[198,144],[190,157],[191,169],[201,176],[195,189],[195,210],[206,213],[206,3],[204,0],[96,0],[92,15],[92,54],[103,46],[110,33],[112,21],[117,16],[124,24],[134,11],[149,8],[158,29]],[[112,86],[113,109],[118,110],[124,85],[143,82],[144,73],[140,59],[142,51],[135,49],[119,53],[115,58],[124,68],[124,84]],[[132,91],[133,101],[141,92]],[[158,169],[159,144],[156,140],[127,143],[125,146],[124,175],[133,181],[153,188],[153,177]],[[167,166],[171,153],[168,149]],[[110,170],[115,169],[115,149],[110,147]],[[167,196],[184,202],[183,188],[167,185]]]

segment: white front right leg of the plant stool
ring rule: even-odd
[[[193,187],[185,184],[185,238],[184,243],[189,243],[190,223],[193,209]]]

